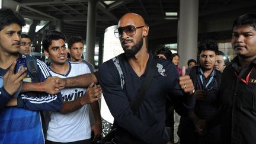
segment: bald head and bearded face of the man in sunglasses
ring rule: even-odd
[[[133,25],[135,27],[136,33],[133,36],[129,36],[123,32],[119,40],[126,56],[133,57],[137,52],[139,52],[145,43],[144,38],[148,35],[148,26],[142,27],[145,25],[143,18],[140,15],[132,13],[125,14],[118,24],[119,28],[127,27],[129,25]]]

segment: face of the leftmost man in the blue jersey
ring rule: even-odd
[[[21,26],[10,24],[0,31],[0,52],[18,54],[20,50]]]

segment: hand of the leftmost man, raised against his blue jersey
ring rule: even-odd
[[[14,63],[12,63],[11,68],[7,73],[4,75],[4,88],[5,91],[7,91],[10,95],[13,95],[15,92],[18,91],[20,88],[23,78],[27,75],[25,71],[27,71],[27,68],[21,69],[21,71],[18,71],[17,73],[14,73],[15,66],[17,64],[17,61],[15,60]]]

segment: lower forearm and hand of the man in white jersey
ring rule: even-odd
[[[75,101],[65,101],[59,112],[62,114],[67,114],[78,110],[85,104],[91,104],[95,102],[98,103],[97,101],[100,100],[101,97],[97,97],[97,95],[101,94],[101,87],[100,85],[95,85],[94,87],[93,86],[94,83],[89,85],[85,94],[77,98]]]

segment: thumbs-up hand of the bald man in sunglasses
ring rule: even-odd
[[[179,78],[179,85],[183,92],[193,94],[194,85],[189,75],[185,75],[185,66],[181,68],[181,76]]]

